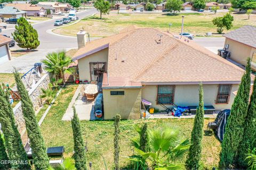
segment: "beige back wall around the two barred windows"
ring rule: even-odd
[[[234,91],[238,89],[239,84],[233,84],[229,99],[229,104],[215,104],[217,98],[218,84],[204,84],[204,105],[212,105],[215,109],[230,109],[235,95]],[[176,85],[174,94],[174,104],[179,106],[197,106],[198,105],[198,85]],[[145,86],[142,88],[142,99],[152,103],[152,106],[160,111],[164,108],[156,104],[157,86]],[[171,105],[166,105],[171,107]]]

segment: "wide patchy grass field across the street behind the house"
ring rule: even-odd
[[[206,32],[215,33],[214,36],[221,36],[217,34],[216,27],[212,24],[212,19],[217,16],[223,16],[225,13],[217,14],[182,14],[185,15],[184,31],[193,33],[196,36],[205,36]],[[82,27],[90,33],[91,37],[107,37],[118,33],[119,30],[134,24],[138,27],[153,27],[163,31],[169,29],[169,23],[172,23],[171,32],[179,33],[181,29],[181,14],[166,15],[166,14],[116,14],[102,15],[103,20],[99,19],[99,15],[86,18],[80,22],[69,25],[67,27],[53,30],[55,33],[61,35],[76,36],[76,33]],[[246,14],[233,14],[234,27],[237,29],[243,25],[256,25],[256,15],[252,14],[250,20],[247,19]],[[231,29],[231,30],[232,30]],[[223,33],[228,32],[224,30]]]

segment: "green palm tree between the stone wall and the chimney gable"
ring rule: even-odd
[[[73,61],[66,55],[65,51],[49,53],[46,55],[46,58],[47,59],[42,61],[44,69],[57,80],[64,80],[64,73],[72,72],[72,69],[68,68],[68,66],[73,63]]]

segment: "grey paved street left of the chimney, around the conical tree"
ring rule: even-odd
[[[77,16],[79,19],[90,16],[97,13],[95,9],[88,9],[83,12],[78,12]],[[64,17],[64,16],[63,16]],[[58,50],[69,50],[71,48],[77,48],[76,37],[57,36],[48,33],[50,29],[55,28],[53,26],[54,20],[44,21],[42,23],[34,24],[33,27],[37,30],[40,40],[40,45],[37,48],[37,52],[29,53],[11,61],[7,61],[0,65],[0,73],[12,73],[13,67],[16,67],[20,72],[26,73],[33,66],[34,63],[41,62],[47,53],[56,52]],[[1,34],[11,36],[14,29],[3,30]],[[11,49],[19,48],[17,45]]]

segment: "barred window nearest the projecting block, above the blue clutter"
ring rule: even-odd
[[[157,86],[157,104],[173,104],[174,102],[174,85]]]

